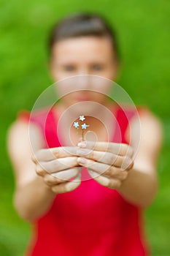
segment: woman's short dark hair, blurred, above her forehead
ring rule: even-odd
[[[103,16],[84,12],[66,16],[66,18],[55,23],[49,38],[50,52],[56,42],[82,36],[108,37],[112,42],[115,58],[117,61],[120,60],[120,51],[113,27]]]

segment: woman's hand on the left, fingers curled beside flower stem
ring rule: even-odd
[[[82,167],[77,163],[76,151],[76,147],[45,148],[32,156],[36,174],[42,176],[55,194],[70,192],[80,186]]]

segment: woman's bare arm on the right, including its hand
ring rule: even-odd
[[[139,131],[135,119],[131,122],[131,129],[134,140],[138,141],[136,136],[139,136]],[[148,111],[141,117],[141,140],[134,165],[133,154],[129,150],[131,147],[104,142],[82,143],[80,146],[84,151],[92,148],[93,151],[86,155],[82,151],[78,162],[88,167],[90,175],[99,184],[117,189],[130,203],[146,207],[152,203],[158,188],[157,159],[161,140],[161,124]],[[124,170],[123,166],[126,166]]]

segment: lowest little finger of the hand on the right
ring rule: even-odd
[[[99,184],[101,184],[104,187],[109,187],[110,189],[117,189],[122,184],[122,182],[116,178],[107,178],[104,176],[96,176],[96,173],[91,170],[88,170],[88,173]]]

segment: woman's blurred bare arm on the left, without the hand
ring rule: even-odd
[[[34,126],[36,148],[43,145],[39,129]],[[37,176],[35,164],[31,161],[31,147],[28,138],[28,124],[16,121],[8,133],[8,151],[15,170],[14,205],[23,219],[31,221],[44,214],[55,194]]]

